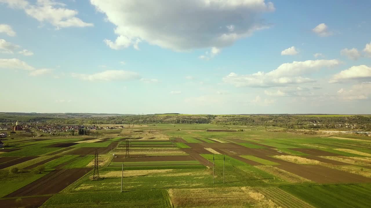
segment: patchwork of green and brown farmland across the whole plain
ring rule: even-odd
[[[45,208],[368,207],[371,140],[281,130],[154,124],[99,130],[100,137],[18,137],[1,150],[0,202]],[[96,151],[99,179],[93,178]]]

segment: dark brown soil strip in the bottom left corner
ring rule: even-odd
[[[25,207],[25,208],[37,208],[40,207],[47,199],[51,196],[43,196],[43,197],[30,197],[30,198],[22,198],[21,201],[16,201],[17,199],[4,199],[1,200],[1,207],[2,208],[16,208],[16,207]]]

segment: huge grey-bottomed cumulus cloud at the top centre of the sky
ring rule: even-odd
[[[223,48],[268,28],[261,15],[275,10],[264,0],[90,2],[116,26],[116,40],[105,40],[113,49],[137,47],[140,41],[174,51]]]

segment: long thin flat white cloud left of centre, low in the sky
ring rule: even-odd
[[[88,81],[113,81],[113,80],[129,80],[129,79],[139,79],[139,74],[132,71],[124,70],[107,70],[95,74],[71,74],[73,78],[78,78],[81,80]]]

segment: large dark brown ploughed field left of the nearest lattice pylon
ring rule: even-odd
[[[91,170],[92,168],[54,170],[17,191],[10,193],[6,197],[56,194]]]

